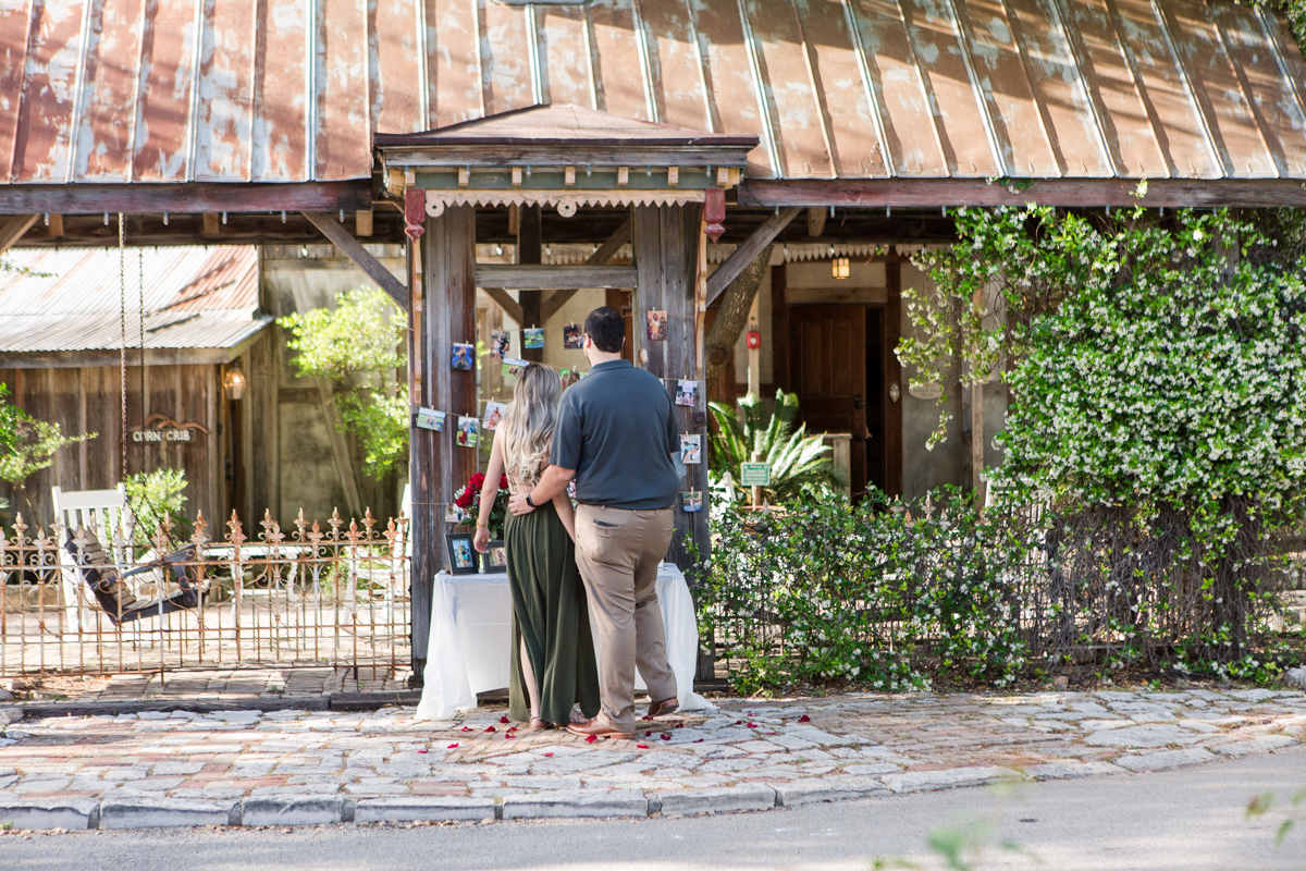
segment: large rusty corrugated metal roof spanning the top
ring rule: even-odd
[[[1222,0],[14,0],[0,179],[366,178],[372,133],[569,103],[751,178],[1306,179],[1306,63]]]

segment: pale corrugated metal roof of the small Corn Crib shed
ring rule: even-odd
[[[259,252],[222,248],[16,248],[0,273],[0,354],[127,346],[235,347],[270,323],[259,316]],[[120,282],[125,266],[125,282]],[[144,276],[144,286],[141,277]]]

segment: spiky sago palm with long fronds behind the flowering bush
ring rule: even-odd
[[[821,436],[807,435],[806,424],[794,430],[797,394],[776,390],[769,419],[761,400],[754,393],[739,400],[742,420],[721,402],[709,402],[708,407],[718,430],[710,436],[712,471],[716,477],[722,478],[729,471],[738,484],[741,464],[752,462],[756,456],[759,462],[771,465],[771,486],[763,488],[763,495],[773,505],[841,483]],[[735,496],[742,503],[752,498],[746,487],[737,487]]]

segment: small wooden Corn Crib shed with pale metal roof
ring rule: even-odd
[[[110,248],[18,249],[8,260],[0,383],[65,434],[98,434],[27,479],[34,522],[54,517],[55,484],[106,490],[123,479],[124,380],[127,474],[185,471],[192,520],[244,513],[268,465],[253,439],[270,398],[257,249],[136,248],[121,259]],[[33,520],[17,492],[5,495]]]

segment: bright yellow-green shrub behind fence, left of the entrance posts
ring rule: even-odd
[[[294,359],[300,376],[345,388],[334,394],[341,430],[358,434],[367,452],[363,470],[380,478],[407,462],[407,385],[394,384],[405,328],[380,290],[351,290],[337,302],[334,309],[315,308],[277,323],[294,336],[286,346],[299,351]]]

